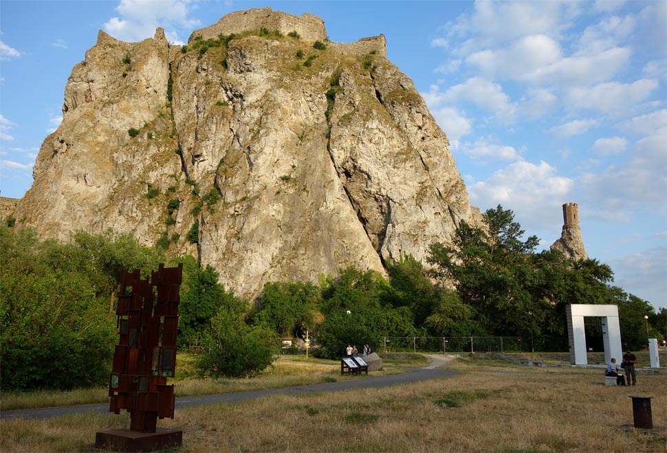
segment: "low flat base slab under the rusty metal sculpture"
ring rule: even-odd
[[[95,437],[95,447],[114,452],[155,452],[165,447],[180,447],[183,432],[155,428],[155,432],[138,432],[128,429],[100,431]]]

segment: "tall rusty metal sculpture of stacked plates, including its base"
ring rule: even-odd
[[[116,316],[120,341],[109,379],[109,411],[130,413],[129,430],[98,432],[96,447],[149,452],[182,443],[182,431],[157,428],[174,417],[179,287],[183,265],[160,267],[151,280],[123,269]]]

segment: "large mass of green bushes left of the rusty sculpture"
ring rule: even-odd
[[[0,225],[3,390],[105,384],[121,269],[149,272],[162,261],[129,234],[76,232],[63,244]]]

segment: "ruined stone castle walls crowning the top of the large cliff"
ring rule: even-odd
[[[254,8],[252,10],[236,11],[226,14],[222,19],[208,27],[195,30],[188,38],[188,44],[197,36],[201,38],[217,38],[219,34],[238,34],[250,30],[278,30],[282,34],[297,32],[303,39],[310,41],[326,41],[327,29],[325,22],[314,14],[304,13],[301,16],[274,11],[271,8]],[[386,39],[384,34],[361,38],[355,43],[327,43],[336,52],[348,55],[364,55],[375,51],[386,58]]]

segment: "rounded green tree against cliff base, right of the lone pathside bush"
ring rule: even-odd
[[[311,283],[266,283],[255,322],[281,337],[305,336],[321,321],[320,301],[320,289]]]

